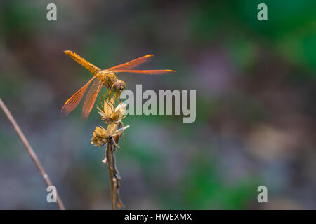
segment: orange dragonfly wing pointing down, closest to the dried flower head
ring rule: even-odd
[[[91,84],[88,94],[86,95],[86,100],[84,101],[84,107],[82,108],[82,114],[81,114],[82,121],[88,118],[88,115],[93,107],[94,102],[96,102],[96,97],[98,96],[101,90],[104,80],[105,80],[105,76],[99,76]]]

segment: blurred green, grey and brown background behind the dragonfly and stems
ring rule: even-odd
[[[57,21],[46,20],[55,3]],[[266,3],[268,21],[257,20]],[[127,209],[316,209],[315,1],[1,1],[0,97],[67,209],[110,209],[96,108],[60,109],[90,78],[63,54],[120,73],[129,90],[197,90],[197,119],[128,116],[117,151]],[[105,92],[105,88],[103,89]],[[268,203],[258,203],[258,186]],[[0,111],[0,209],[57,209]]]

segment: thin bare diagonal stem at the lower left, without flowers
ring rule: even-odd
[[[37,158],[37,155],[35,154],[32,146],[29,144],[29,141],[27,141],[27,138],[25,137],[25,135],[21,131],[18,123],[16,123],[11,112],[6,107],[6,104],[4,104],[4,102],[2,101],[1,97],[0,97],[0,106],[1,106],[1,109],[4,111],[4,113],[6,114],[6,117],[8,118],[8,120],[10,120],[11,124],[13,125],[15,132],[18,133],[18,136],[20,137],[22,144],[25,146],[27,153],[29,153],[29,156],[32,158],[34,165],[39,170],[39,173],[43,177],[46,185],[52,186],[53,183],[51,183],[51,180],[49,179],[48,174],[46,174],[44,167],[41,165],[41,162],[39,162],[39,158]],[[62,203],[62,200],[60,199],[60,196],[58,195],[58,193],[56,196],[57,196],[57,203],[58,203],[59,209],[65,210],[64,204]]]

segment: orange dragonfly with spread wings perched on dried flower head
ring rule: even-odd
[[[62,116],[66,116],[70,112],[72,112],[81,101],[82,97],[84,97],[84,93],[88,89],[88,86],[92,83],[88,94],[86,95],[86,99],[84,101],[84,106],[82,108],[81,118],[85,120],[91,109],[93,108],[93,104],[96,102],[96,97],[98,96],[101,87],[105,85],[107,87],[107,92],[100,98],[102,99],[107,94],[107,99],[113,96],[117,100],[117,102],[121,102],[121,92],[125,90],[126,84],[124,81],[119,80],[115,73],[120,72],[128,72],[128,73],[139,73],[139,74],[147,74],[147,75],[160,75],[169,72],[176,72],[173,70],[130,70],[134,67],[147,62],[148,59],[152,58],[154,55],[145,55],[143,57],[138,57],[137,59],[133,59],[131,62],[126,62],[124,64],[119,64],[117,66],[113,66],[110,69],[101,70],[97,66],[87,62],[85,59],[77,55],[75,52],[70,50],[64,51],[66,55],[72,57],[76,62],[84,66],[88,71],[93,74],[93,78],[86,83],[80,90],[78,90],[70,99],[65,102],[64,106],[62,106],[61,114]]]

